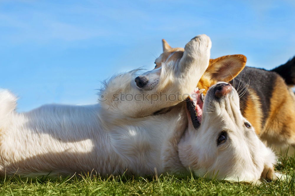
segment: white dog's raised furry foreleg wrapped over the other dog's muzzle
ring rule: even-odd
[[[181,59],[163,64],[159,71],[159,82],[153,89],[138,89],[134,74],[119,75],[101,91],[106,95],[102,104],[104,112],[115,119],[124,117],[143,117],[175,106],[184,101],[195,89],[199,79],[209,66],[211,40],[207,35],[198,35],[189,41]],[[134,77],[134,78],[133,78]],[[132,81],[131,83],[125,81]],[[114,101],[114,95],[129,94],[135,99]],[[108,119],[109,120],[109,119]]]

